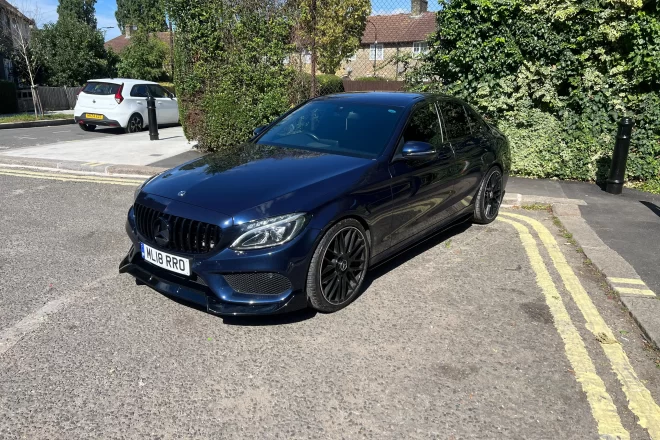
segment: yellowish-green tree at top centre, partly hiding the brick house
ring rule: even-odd
[[[300,14],[303,47],[311,51],[314,45],[319,70],[334,74],[342,60],[359,49],[371,1],[300,0]]]

